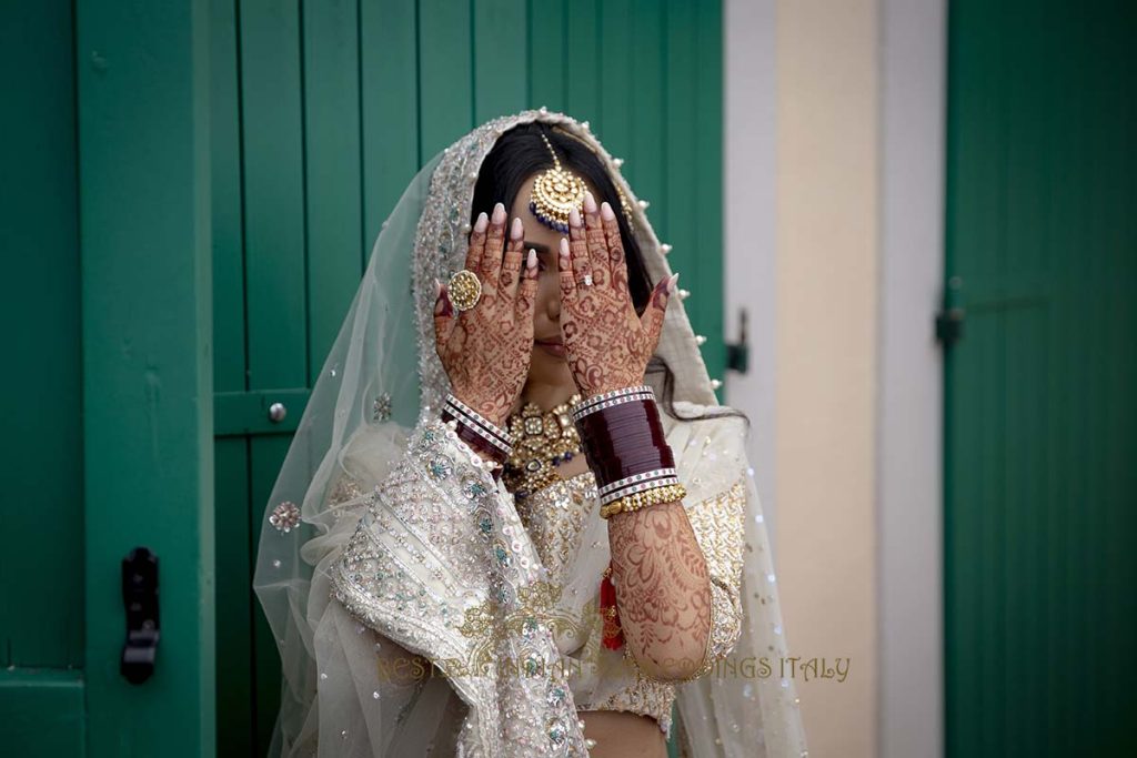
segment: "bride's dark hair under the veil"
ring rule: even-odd
[[[561,165],[571,169],[588,184],[596,188],[598,203],[607,202],[614,209],[621,207],[620,194],[612,177],[600,159],[584,142],[557,127],[534,122],[522,124],[503,134],[489,155],[482,161],[478,183],[474,185],[474,200],[470,209],[470,223],[473,224],[478,214],[488,211],[495,203],[512,208],[517,198],[517,191],[533,174],[553,167],[553,156],[545,144],[543,135],[557,153]],[[631,291],[636,313],[642,315],[652,297],[652,281],[644,265],[644,255],[632,234],[628,218],[616,213],[620,224],[620,238],[624,245],[624,260],[628,264],[628,289]],[[664,411],[680,420],[696,420],[707,416],[679,416],[675,414],[675,374],[663,358],[653,356],[647,365],[648,375],[663,374],[663,395],[659,402]],[[745,415],[740,411],[721,415]],[[749,419],[747,419],[747,424]]]

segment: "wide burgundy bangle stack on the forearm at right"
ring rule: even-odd
[[[600,488],[675,467],[654,400],[632,400],[592,411],[576,420],[576,430]]]

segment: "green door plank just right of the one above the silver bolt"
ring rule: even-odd
[[[363,225],[359,49],[355,0],[304,6],[308,385],[359,285]]]

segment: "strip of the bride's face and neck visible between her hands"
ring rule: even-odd
[[[529,383],[563,386],[571,391],[574,382],[561,342],[561,285],[557,281],[557,250],[564,235],[539,222],[529,209],[533,178],[530,176],[521,185],[509,210],[509,218],[520,218],[524,224],[524,250],[526,255],[530,248],[537,250],[540,269],[537,307],[533,309],[533,353],[529,364]],[[597,194],[595,188],[589,186],[589,190],[594,195]]]

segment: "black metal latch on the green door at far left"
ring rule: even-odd
[[[123,559],[123,606],[126,642],[118,673],[131,684],[141,684],[153,674],[159,636],[158,556],[148,548],[134,548]]]

